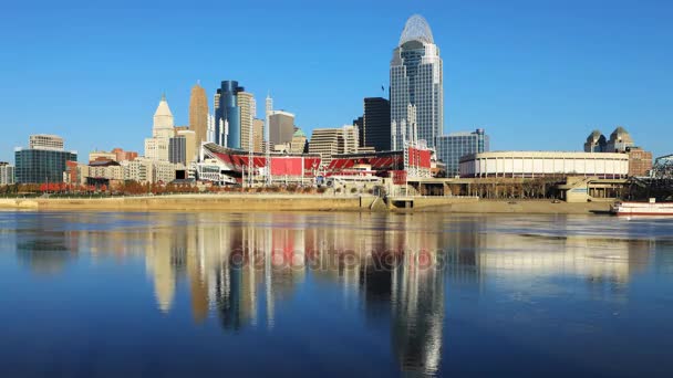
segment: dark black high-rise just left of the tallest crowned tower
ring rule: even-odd
[[[360,127],[361,147],[391,150],[391,103],[382,97],[364,98],[364,116]]]

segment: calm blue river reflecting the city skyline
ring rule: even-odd
[[[672,376],[673,220],[0,212],[0,376]]]

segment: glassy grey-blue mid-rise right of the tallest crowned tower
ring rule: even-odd
[[[446,177],[458,176],[460,158],[489,150],[489,138],[483,128],[472,133],[451,133],[437,137],[437,158],[446,165]]]

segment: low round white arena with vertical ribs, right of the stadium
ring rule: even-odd
[[[624,178],[629,155],[609,153],[497,151],[460,158],[460,177],[535,178],[584,176]]]

